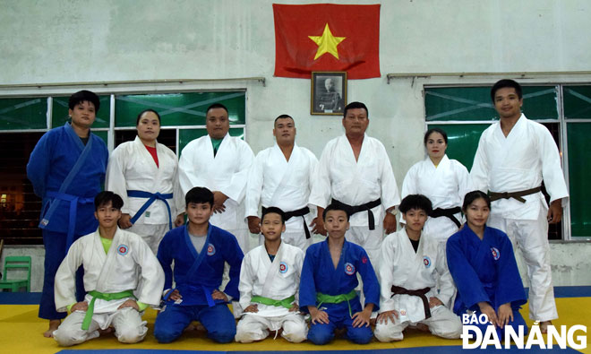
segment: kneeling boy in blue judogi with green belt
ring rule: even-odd
[[[300,281],[300,308],[312,317],[308,339],[326,344],[334,338],[335,329],[345,327],[349,341],[366,344],[373,336],[370,316],[380,304],[378,279],[364,248],[345,239],[347,208],[330,204],[322,218],[329,237],[306,251]],[[357,273],[363,281],[363,310],[355,292]]]

